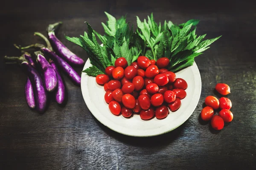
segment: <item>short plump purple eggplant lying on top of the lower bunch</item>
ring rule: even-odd
[[[47,91],[54,91],[58,85],[58,78],[55,70],[49,64],[47,59],[42,55],[40,51],[35,52],[37,55],[37,62],[41,66],[41,72],[44,79],[45,88]]]

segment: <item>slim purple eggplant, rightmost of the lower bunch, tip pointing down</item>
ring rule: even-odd
[[[58,71],[57,66],[55,65],[55,63],[52,60],[50,61],[50,65],[52,65],[52,68],[55,70],[55,72],[57,74],[57,78],[58,78],[58,87],[57,87],[57,91],[55,94],[55,99],[58,104],[62,104],[65,100],[65,85],[61,78],[61,74]]]

